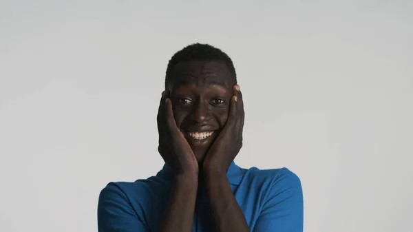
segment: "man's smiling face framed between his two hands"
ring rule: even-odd
[[[173,68],[169,91],[176,125],[198,162],[229,116],[235,78],[222,61],[187,61]]]

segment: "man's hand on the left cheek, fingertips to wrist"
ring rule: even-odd
[[[158,111],[158,151],[175,175],[198,174],[198,161],[173,117],[169,92],[162,92]]]

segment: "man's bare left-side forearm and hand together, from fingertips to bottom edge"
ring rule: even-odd
[[[198,191],[198,161],[173,118],[171,99],[163,92],[158,114],[158,151],[174,173],[171,199],[160,232],[190,232]]]

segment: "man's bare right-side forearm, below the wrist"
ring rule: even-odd
[[[226,174],[207,173],[205,180],[217,231],[249,232],[244,213],[235,200]]]

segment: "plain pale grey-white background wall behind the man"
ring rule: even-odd
[[[107,182],[156,174],[195,42],[235,63],[237,165],[297,173],[304,231],[413,231],[412,1],[0,2],[0,231],[97,231]]]

